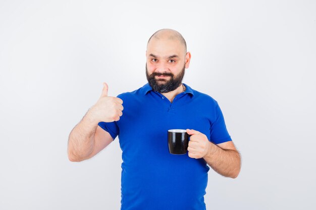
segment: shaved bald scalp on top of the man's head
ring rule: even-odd
[[[168,40],[174,40],[174,41],[179,41],[181,45],[183,46],[183,49],[185,53],[187,52],[187,45],[186,42],[183,38],[183,36],[176,30],[173,29],[161,29],[159,31],[156,31],[154,34],[151,35],[147,42],[150,42],[151,39],[156,39],[156,40],[163,40],[163,39],[168,39]]]

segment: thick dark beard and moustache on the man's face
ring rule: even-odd
[[[170,91],[176,90],[181,84],[184,77],[185,65],[183,66],[181,72],[177,77],[172,73],[157,73],[153,72],[148,75],[147,63],[146,63],[146,78],[152,88],[152,90],[160,93],[168,93]],[[169,76],[170,80],[166,79],[155,79],[156,76]]]

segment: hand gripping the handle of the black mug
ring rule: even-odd
[[[206,156],[210,149],[210,142],[206,135],[193,129],[186,129],[186,131],[191,135],[188,146],[189,157],[198,159]]]

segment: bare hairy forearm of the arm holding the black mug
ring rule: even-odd
[[[240,154],[235,150],[225,150],[209,142],[209,148],[204,160],[217,173],[236,178],[240,172]]]

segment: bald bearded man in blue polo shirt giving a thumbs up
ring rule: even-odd
[[[205,209],[208,166],[236,178],[240,155],[217,101],[182,84],[191,58],[182,35],[155,32],[146,58],[148,84],[140,89],[110,97],[103,84],[97,103],[70,133],[69,159],[89,159],[119,136],[121,209]],[[169,153],[167,131],[174,128],[191,135],[185,155]]]

